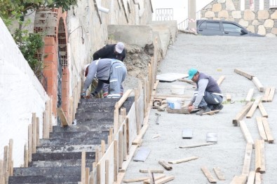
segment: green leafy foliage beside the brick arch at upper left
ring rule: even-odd
[[[70,6],[76,5],[76,3],[77,0],[0,0],[0,17],[7,27],[18,22],[19,27],[15,29],[12,36],[38,78],[41,77],[43,70],[43,57],[40,55],[41,48],[43,48],[43,38],[41,34],[28,33],[23,28],[23,24],[30,23],[24,21],[25,16],[35,10],[62,8],[63,11],[67,11]]]

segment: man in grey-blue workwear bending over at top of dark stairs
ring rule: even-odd
[[[83,84],[81,98],[86,96],[86,90],[93,82],[93,78],[98,79],[97,87],[91,96],[95,97],[103,88],[104,83],[109,84],[108,98],[120,98],[123,90],[122,82],[126,78],[127,69],[123,62],[117,59],[97,59],[86,67],[86,80]],[[122,89],[122,90],[121,90]]]

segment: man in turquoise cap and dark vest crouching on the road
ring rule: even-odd
[[[222,110],[222,92],[217,81],[197,69],[189,69],[189,79],[196,83],[194,97],[191,99],[188,108],[189,112],[198,108],[197,115],[202,115],[209,111]]]

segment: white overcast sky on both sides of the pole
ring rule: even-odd
[[[196,0],[196,12],[213,0]],[[153,6],[152,20],[156,20],[156,8],[173,8],[173,20],[177,20],[177,24],[187,19],[188,15],[188,0],[151,0]]]

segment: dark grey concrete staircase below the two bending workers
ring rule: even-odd
[[[67,183],[81,181],[81,152],[86,151],[86,167],[92,170],[95,147],[107,143],[109,128],[114,126],[114,105],[119,99],[81,99],[76,125],[54,126],[50,139],[40,139],[29,167],[13,169],[9,184]],[[134,102],[129,97],[123,104],[126,113]],[[107,148],[107,146],[106,146]]]

